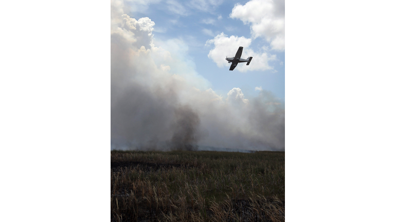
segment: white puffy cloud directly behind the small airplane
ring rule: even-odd
[[[212,59],[218,67],[228,67],[229,64],[225,60],[227,57],[234,57],[239,46],[243,46],[243,59],[253,57],[253,61],[247,66],[244,63],[238,64],[235,70],[245,72],[247,70],[267,70],[273,69],[268,65],[268,61],[276,60],[276,55],[270,55],[267,52],[255,52],[249,48],[252,39],[247,39],[244,36],[238,37],[231,35],[228,37],[223,32],[214,37],[214,39],[207,40],[206,45],[214,45],[208,53],[208,58]]]

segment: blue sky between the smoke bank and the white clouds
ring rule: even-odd
[[[232,9],[240,4],[244,6],[248,1],[151,1],[140,4],[136,1],[126,1],[130,6],[128,15],[138,20],[149,17],[153,26],[155,46],[166,47],[168,40],[181,40],[188,49],[184,56],[194,64],[196,72],[209,82],[209,87],[217,94],[226,95],[230,89],[239,87],[246,98],[259,94],[255,87],[271,91],[282,102],[285,101],[285,50],[271,50],[270,42],[264,36],[253,38],[250,26],[252,23],[243,23],[239,18],[231,18]],[[202,6],[203,5],[203,6]],[[206,6],[205,6],[206,5]],[[197,6],[197,7],[196,7]],[[206,44],[214,36],[224,33],[229,38],[231,35],[244,36],[252,39],[249,46],[255,52],[267,52],[275,55],[275,60],[268,61],[272,69],[247,70],[240,72],[239,64],[234,71],[229,71],[229,66],[218,67],[208,53],[214,48],[213,44]],[[245,46],[244,46],[245,47]],[[266,50],[263,49],[266,47]],[[172,51],[171,48],[165,48]],[[223,54],[233,57],[237,48],[232,48],[233,53]],[[248,55],[244,49],[242,58]],[[257,63],[259,58],[254,58],[252,63]]]

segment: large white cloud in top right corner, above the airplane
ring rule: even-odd
[[[229,15],[251,24],[253,38],[265,38],[272,49],[285,50],[285,1],[252,0],[237,4]]]

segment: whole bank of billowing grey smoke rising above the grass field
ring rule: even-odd
[[[207,87],[178,51],[156,47],[149,18],[135,20],[112,1],[112,149],[196,150],[223,147],[284,150],[284,104],[267,91],[245,98],[233,88],[226,98]]]

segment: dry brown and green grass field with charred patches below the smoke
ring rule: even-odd
[[[111,221],[285,221],[284,152],[111,151]]]

